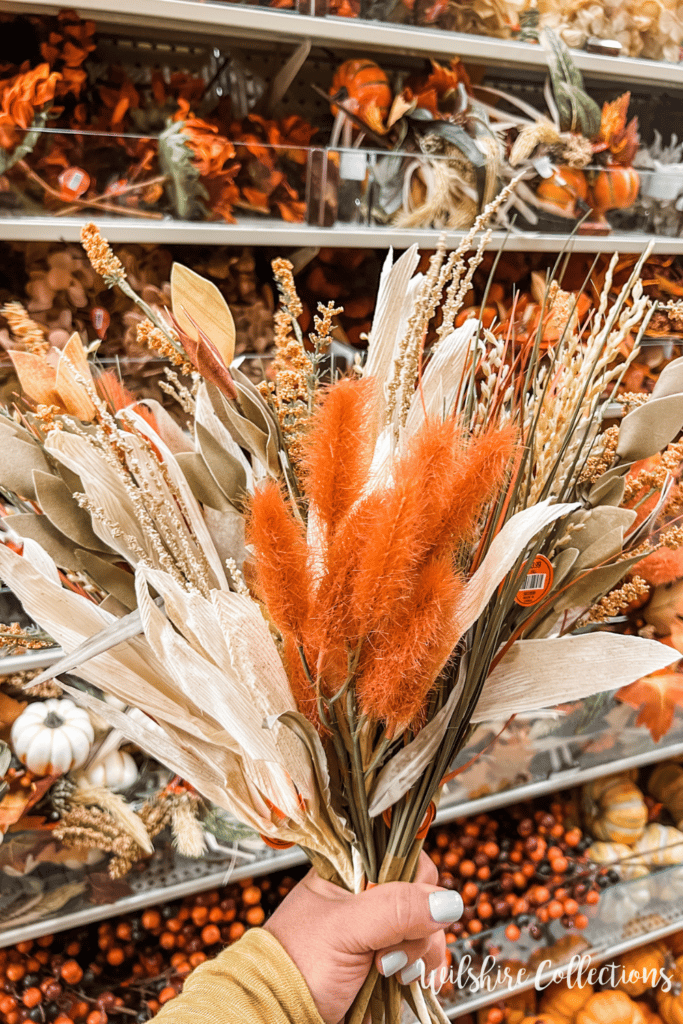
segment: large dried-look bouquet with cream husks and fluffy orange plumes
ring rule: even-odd
[[[639,559],[679,543],[675,524],[648,539],[680,503],[683,362],[621,426],[603,422],[654,312],[647,254],[608,305],[610,264],[582,328],[577,296],[549,281],[536,337],[515,347],[477,319],[454,327],[490,212],[424,274],[415,248],[389,255],[365,368],[331,386],[337,310],[321,306],[305,344],[285,260],[260,390],[230,366],[220,294],[175,265],[172,316],[142,304],[139,336],[176,368],[184,431],[99,374],[78,335],[60,353],[11,353],[25,400],[0,423],[18,509],[0,572],[69,652],[48,674],[125,701],[65,684],[115,736],[349,890],[412,878],[475,723],[672,660],[652,640],[572,634],[596,605],[604,617],[605,595],[609,613],[632,600],[638,578],[620,585]],[[94,225],[83,242],[140,305]],[[558,340],[542,344],[550,317]],[[348,1019],[397,1021],[402,997],[442,1020],[417,983],[375,972]]]

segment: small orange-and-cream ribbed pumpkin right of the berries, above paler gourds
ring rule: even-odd
[[[607,775],[584,786],[584,813],[596,839],[632,845],[647,824],[647,805],[628,776]]]

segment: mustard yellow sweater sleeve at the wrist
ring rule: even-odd
[[[324,1024],[278,939],[253,928],[197,968],[155,1024]]]

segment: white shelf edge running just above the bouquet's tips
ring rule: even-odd
[[[243,218],[237,224],[204,221],[168,220],[150,222],[132,218],[98,217],[86,211],[80,217],[7,217],[0,218],[0,239],[16,242],[78,242],[82,225],[95,220],[110,242],[146,242],[160,245],[223,246],[334,246],[342,249],[408,249],[414,243],[433,249],[440,231],[431,228],[403,229],[365,227],[338,223],[334,227],[291,224]],[[458,245],[464,231],[446,231],[449,244]],[[683,240],[630,231],[606,236],[542,234],[530,231],[510,233],[494,231],[489,249],[503,246],[515,252],[640,253],[651,242],[653,252],[682,254]]]

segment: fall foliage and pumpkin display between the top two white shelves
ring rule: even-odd
[[[111,47],[100,54],[94,23],[74,11],[28,24],[35,53],[0,80],[7,217],[90,210],[466,229],[515,179],[499,226],[513,217],[516,229],[547,226],[551,215],[566,231],[590,213],[581,229],[604,233],[606,214],[632,208],[639,195],[629,94],[605,103],[601,117],[550,28],[540,36],[550,76],[545,114],[515,88],[481,82],[480,70],[473,84],[458,57],[411,75],[351,58],[330,69],[328,82],[317,80],[319,63],[312,79],[304,65],[297,81],[310,108],[285,86],[273,105],[275,83],[229,53],[207,48],[191,71],[170,50],[166,65],[160,55],[136,67],[113,62]],[[319,109],[310,118],[315,92],[329,97],[330,118]]]

